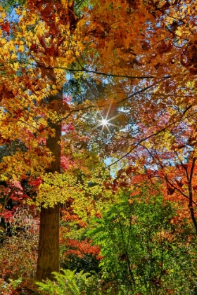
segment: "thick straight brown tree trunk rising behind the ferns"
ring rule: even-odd
[[[49,101],[62,100],[63,93],[59,91],[57,96],[49,98]],[[53,153],[55,160],[51,163],[51,168],[47,172],[60,172],[61,169],[61,124],[53,124],[49,120],[49,126],[56,131],[56,136],[46,140],[46,147]],[[51,273],[58,272],[60,268],[59,249],[59,204],[41,208],[40,228],[39,228],[39,249],[37,261],[37,280],[42,281],[53,279]]]

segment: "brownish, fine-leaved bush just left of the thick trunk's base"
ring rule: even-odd
[[[34,277],[37,266],[38,225],[25,207],[20,207],[11,220],[12,236],[1,246],[0,278]]]

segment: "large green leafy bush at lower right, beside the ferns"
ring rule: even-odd
[[[122,192],[87,235],[101,247],[102,278],[117,284],[117,294],[195,294],[193,228],[158,190],[144,188],[132,197]]]

